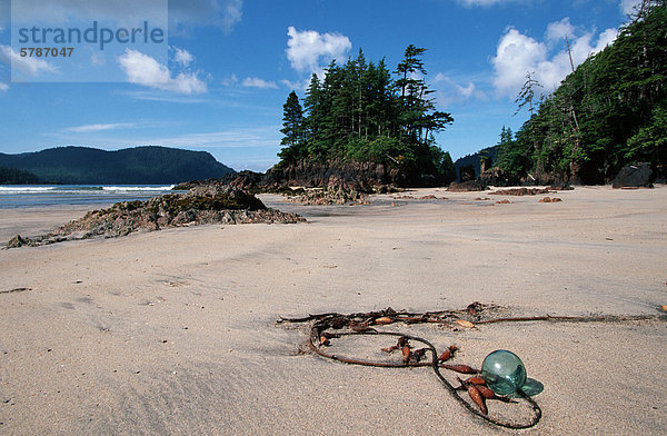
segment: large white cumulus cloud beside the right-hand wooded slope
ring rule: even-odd
[[[617,33],[616,29],[607,29],[595,38],[593,32],[576,36],[575,30],[569,19],[554,22],[548,26],[546,42],[542,42],[509,28],[500,38],[496,56],[491,59],[494,85],[498,93],[516,97],[526,81],[527,72],[535,72],[532,78],[542,85],[545,91],[552,91],[571,72],[569,54],[563,41],[566,34],[576,68],[590,54],[614,42]],[[554,52],[551,48],[555,47],[561,49]]]

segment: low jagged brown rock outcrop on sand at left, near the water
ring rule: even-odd
[[[135,231],[202,224],[250,224],[305,221],[297,214],[267,208],[242,189],[221,184],[200,185],[187,194],[168,194],[147,201],[123,201],[93,210],[50,234],[34,238],[16,236],[7,248],[40,246],[63,240],[113,238]]]

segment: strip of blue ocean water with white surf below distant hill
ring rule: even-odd
[[[176,192],[171,186],[99,186],[44,185],[0,186],[0,209],[47,206],[111,206],[119,201],[146,200],[163,194]]]

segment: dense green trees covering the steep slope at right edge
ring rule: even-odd
[[[519,108],[532,105],[530,80]],[[614,44],[545,97],[514,139],[501,138],[498,165],[542,180],[588,184],[608,181],[640,160],[665,166],[666,97],[667,6],[645,0]]]

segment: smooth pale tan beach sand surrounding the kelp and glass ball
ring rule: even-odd
[[[579,187],[551,195],[558,204],[407,194],[448,199],[303,207],[262,196],[309,224],[1,250],[0,434],[665,433],[664,319],[401,327],[440,349],[456,343],[456,363],[480,366],[498,348],[521,356],[545,386],[535,397],[544,418],[529,430],[471,416],[429,368],[303,353],[307,326],[277,325],[279,316],[479,300],[516,316],[659,317],[667,304],[665,186]],[[0,210],[0,240],[81,215]]]

